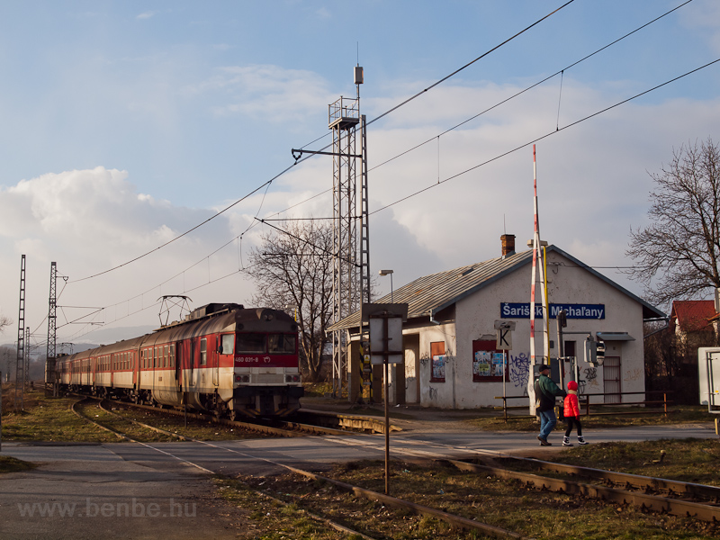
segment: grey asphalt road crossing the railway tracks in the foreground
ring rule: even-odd
[[[407,428],[410,426],[410,428]],[[411,428],[392,433],[402,457],[473,453],[537,455],[561,450],[536,434]],[[716,438],[711,425],[593,430],[590,443],[662,438]],[[32,446],[3,443],[1,455],[39,463],[31,472],[0,475],[0,538],[235,538],[250,527],[242,510],[215,497],[211,473],[265,475],[283,464],[323,471],[329,464],[383,459],[382,435],[298,437],[217,443],[117,443]]]

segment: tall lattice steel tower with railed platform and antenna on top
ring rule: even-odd
[[[333,144],[333,324],[370,302],[370,235],[368,227],[367,144],[365,116],[360,114],[363,68],[355,68],[356,98],[329,105],[329,129]],[[360,154],[357,126],[360,124]],[[357,169],[360,164],[360,201],[357,201]],[[359,221],[359,243],[358,243]],[[347,378],[347,334],[332,333],[332,394],[339,397]]]

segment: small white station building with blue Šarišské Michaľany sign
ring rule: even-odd
[[[475,409],[501,406],[503,395],[509,406],[529,404],[533,251],[516,252],[513,235],[501,240],[500,257],[426,275],[392,293],[394,302],[409,306],[402,325],[404,364],[390,366],[388,396],[393,405]],[[560,247],[546,247],[546,267],[554,380],[558,382],[560,367],[556,314],[562,309],[567,314],[564,356],[577,359],[581,393],[591,395],[590,402],[643,401],[643,323],[665,315]],[[538,293],[537,365],[543,362],[545,325],[540,298]],[[377,302],[391,302],[391,297]],[[515,323],[507,352],[497,348],[498,321]],[[363,395],[360,313],[332,329],[347,332],[349,397],[357,401]],[[590,335],[605,343],[602,365],[585,361],[585,340]],[[571,365],[563,361],[565,382]],[[382,387],[381,371],[374,370],[374,388]],[[381,397],[381,392],[374,392],[374,401]]]

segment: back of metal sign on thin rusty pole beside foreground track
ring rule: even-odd
[[[402,322],[408,320],[408,304],[363,304],[363,321],[370,325],[370,361],[384,367],[385,400],[385,495],[390,495],[390,412],[388,365],[402,364]]]

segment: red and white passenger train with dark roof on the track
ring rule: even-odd
[[[284,311],[211,303],[152,334],[58,357],[61,390],[216,415],[300,408],[298,326]]]

